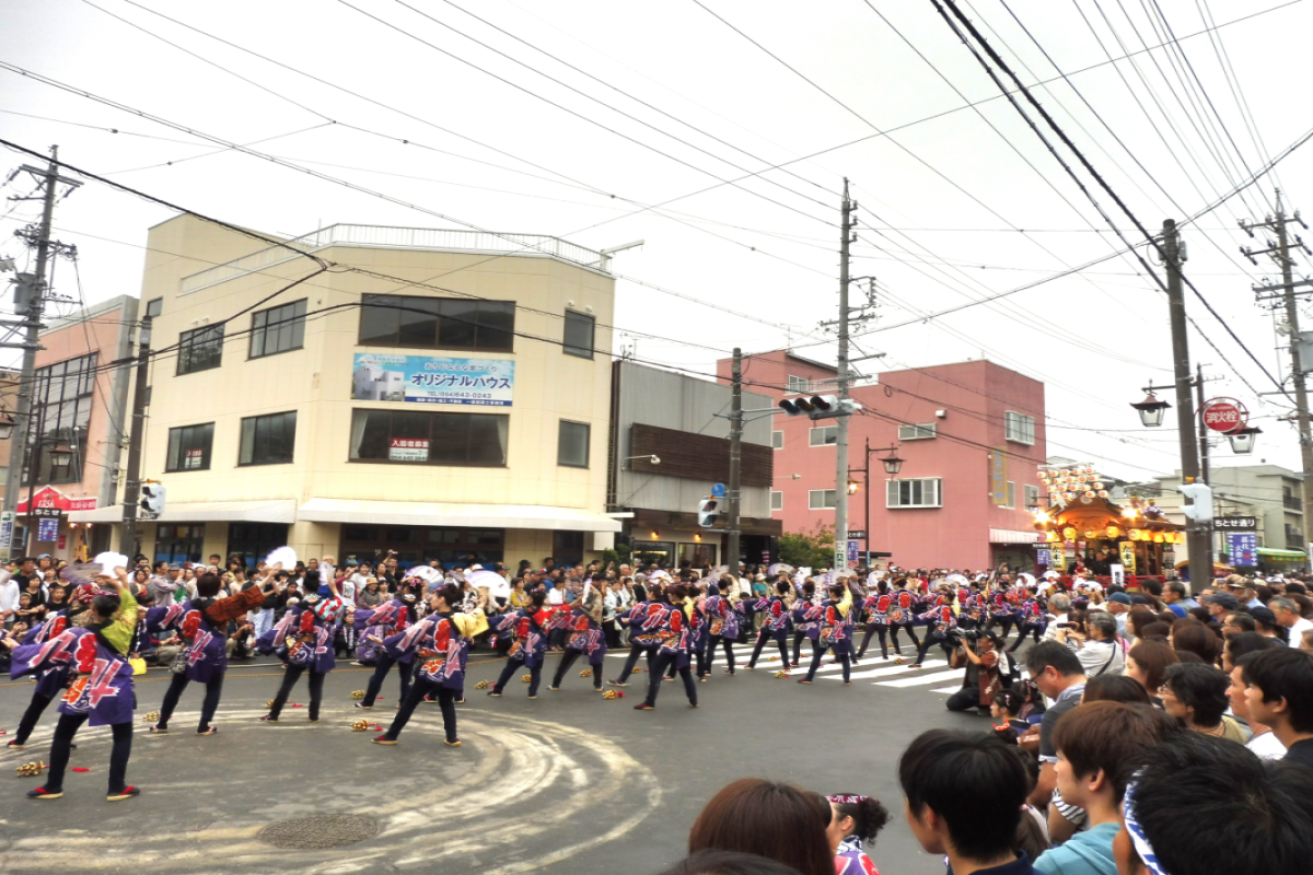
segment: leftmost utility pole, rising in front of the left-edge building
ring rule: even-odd
[[[46,266],[53,251],[66,251],[66,247],[50,239],[50,224],[55,215],[55,188],[60,182],[75,188],[81,185],[76,180],[67,180],[59,176],[58,146],[50,147],[50,161],[45,168],[24,164],[18,169],[35,177],[45,188],[45,192],[42,193],[41,224],[37,228],[26,228],[17,234],[17,236],[37,249],[35,272],[18,274],[18,289],[21,296],[25,296],[22,302],[25,312],[22,314],[22,321],[18,323],[25,329],[24,340],[21,344],[0,344],[0,348],[5,349],[22,349],[22,375],[18,382],[18,399],[13,411],[13,439],[9,443],[9,470],[5,476],[3,517],[0,517],[0,519],[8,523],[0,525],[0,554],[3,554],[4,559],[11,558],[14,547],[13,521],[18,510],[18,492],[22,488],[22,475],[29,462],[26,458],[28,441],[39,439],[41,437],[32,433],[32,405],[33,396],[35,395],[37,350],[41,349],[41,314],[46,303],[46,291],[49,290]],[[35,474],[33,474],[34,476]],[[29,495],[28,497],[30,504],[32,496]],[[28,542],[32,542],[34,537],[32,521],[34,517],[32,516],[30,506],[28,508]],[[26,543],[22,544],[22,550],[26,550]]]

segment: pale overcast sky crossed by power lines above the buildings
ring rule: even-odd
[[[1150,231],[1215,206],[1313,129],[1310,3],[958,5],[1023,83],[1048,83],[1036,98]],[[0,70],[4,139],[58,143],[70,164],[276,234],[341,222],[645,239],[613,262],[617,327],[635,333],[617,345],[699,373],[735,345],[834,359],[817,323],[836,315],[848,177],[853,273],[877,278],[881,304],[861,350],[888,369],[987,357],[1048,384],[1050,454],[1128,479],[1179,466],[1175,430],[1146,432],[1128,407],[1171,380],[1165,296],[931,0],[4,0],[0,16],[0,60],[72,89]],[[30,161],[3,155],[0,169]],[[1237,222],[1270,213],[1276,186],[1313,210],[1313,146],[1187,227],[1187,275],[1243,346],[1187,291],[1190,344],[1220,378],[1209,395],[1241,399],[1263,429],[1254,457],[1224,443],[1216,462],[1299,470],[1295,428],[1278,421],[1291,404],[1258,395],[1288,376],[1250,291],[1276,274],[1238,252],[1262,248]],[[20,174],[3,194],[30,188]],[[25,258],[9,235],[39,205],[5,211],[0,254]],[[169,215],[96,182],[59,203],[89,303],[139,293],[147,228]],[[55,283],[77,296],[68,265]]]

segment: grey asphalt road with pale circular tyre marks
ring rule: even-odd
[[[368,669],[339,665],[319,723],[289,707],[268,725],[256,718],[278,686],[280,666],[235,664],[210,737],[194,735],[196,686],[172,733],[146,732],[142,715],[159,708],[168,683],[164,669],[151,669],[138,678],[129,766],[142,796],[118,803],[105,802],[106,729],[79,733],[70,765],[88,771],[70,770],[63,799],[24,796],[41,781],[17,778],[14,769],[49,760],[51,707],[26,749],[0,750],[0,871],[642,875],[684,854],[689,826],[717,790],[756,775],[877,796],[894,815],[868,851],[880,870],[940,875],[940,859],[920,850],[902,819],[898,756],[926,728],[987,729],[982,718],[944,710],[947,694],[937,690],[960,683],[941,664],[915,673],[868,655],[857,669],[867,677],[851,687],[830,669],[802,686],[773,677],[777,662],[734,677],[718,664],[699,683],[700,708],[687,706],[676,681],[663,685],[658,710],[639,712],[633,704],[646,674],[632,678],[625,698],[604,701],[578,676],[578,662],[559,693],[546,689],[548,674],[537,701],[525,698],[519,680],[506,697],[488,698],[475,683],[495,680],[503,662],[477,652],[469,703],[460,706],[463,745],[444,746],[437,706],[420,706],[400,744],[385,748],[351,722],[365,714],[390,722],[395,676],[378,707],[361,712],[351,691],[365,686]],[[608,676],[618,666],[609,657]],[[8,737],[30,694],[26,681],[0,683]],[[290,702],[305,704],[307,695],[302,681]],[[353,820],[322,830],[288,823],[323,816]],[[336,838],[356,841],[305,846]]]

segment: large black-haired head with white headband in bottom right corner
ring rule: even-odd
[[[1242,745],[1182,732],[1130,763],[1121,875],[1302,875],[1313,859],[1313,771],[1264,767]]]

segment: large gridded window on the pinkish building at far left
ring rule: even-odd
[[[38,367],[33,388],[26,474],[35,483],[79,483],[96,392],[96,353]],[[56,462],[54,450],[68,450],[72,457]]]

